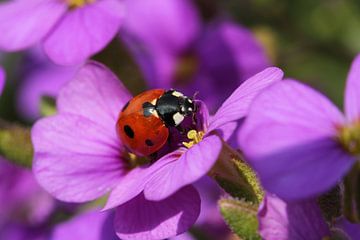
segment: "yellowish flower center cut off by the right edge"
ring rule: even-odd
[[[360,154],[360,121],[341,127],[338,132],[338,141],[349,153]]]

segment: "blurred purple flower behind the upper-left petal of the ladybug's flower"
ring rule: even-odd
[[[31,49],[24,61],[22,81],[17,89],[17,110],[29,120],[38,119],[42,97],[56,98],[60,88],[75,76],[79,66],[58,66],[42,49]]]

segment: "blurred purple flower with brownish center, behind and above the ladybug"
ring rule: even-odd
[[[214,112],[269,65],[249,30],[228,20],[203,23],[191,0],[126,3],[121,37],[151,88],[173,87],[189,96],[198,91]]]

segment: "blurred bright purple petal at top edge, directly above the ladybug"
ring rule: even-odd
[[[189,0],[129,0],[126,7],[121,37],[150,86],[171,87],[178,55],[200,30],[196,8]]]

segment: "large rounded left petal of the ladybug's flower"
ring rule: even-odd
[[[110,191],[124,174],[121,143],[89,119],[61,114],[34,125],[33,172],[63,201],[84,202]]]

